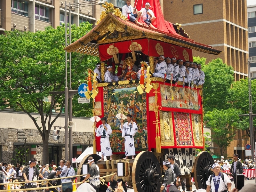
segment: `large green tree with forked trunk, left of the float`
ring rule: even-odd
[[[79,27],[72,25],[72,42],[91,29],[89,23],[81,23]],[[64,107],[64,94],[50,95],[50,92],[64,91],[65,28],[5,33],[0,35],[0,107],[21,109],[33,120],[44,143],[43,162],[46,164],[49,134]],[[97,57],[72,53],[72,89],[85,82],[87,73],[84,71],[94,67],[96,62]],[[50,96],[50,102],[45,101]],[[58,113],[54,118],[52,109]],[[37,112],[39,116],[35,118],[31,112]]]

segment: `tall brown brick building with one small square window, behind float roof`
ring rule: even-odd
[[[179,23],[190,38],[222,50],[210,55],[193,50],[193,56],[208,61],[221,58],[235,70],[235,80],[248,75],[247,6],[244,0],[165,0],[164,18]]]

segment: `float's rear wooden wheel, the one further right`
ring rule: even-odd
[[[194,180],[196,189],[207,188],[206,181],[212,174],[211,168],[213,164],[214,161],[212,156],[206,151],[202,151],[196,156],[194,164]]]

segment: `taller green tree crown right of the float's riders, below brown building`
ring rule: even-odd
[[[233,68],[223,63],[220,58],[217,58],[204,65],[202,70],[205,74],[203,88],[204,111],[229,108],[229,89],[234,81]]]

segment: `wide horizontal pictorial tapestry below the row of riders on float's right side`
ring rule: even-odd
[[[160,91],[162,107],[199,110],[197,89],[160,84]]]

